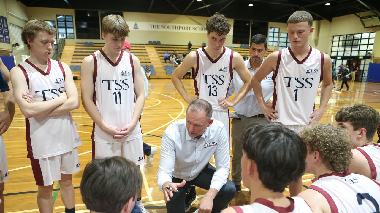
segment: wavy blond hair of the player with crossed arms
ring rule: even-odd
[[[34,37],[39,31],[46,31],[47,33],[54,36],[55,34],[57,34],[55,28],[44,20],[33,19],[28,21],[21,32],[21,39],[24,42],[24,44],[28,46],[28,49],[30,49],[30,45],[28,44],[27,39],[30,38],[33,41]]]

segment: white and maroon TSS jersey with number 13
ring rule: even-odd
[[[233,51],[223,47],[222,54],[215,60],[212,60],[203,47],[195,50],[195,53],[196,70],[193,75],[195,94],[200,99],[210,102],[212,110],[228,111],[219,105],[218,99],[227,97],[233,79]]]

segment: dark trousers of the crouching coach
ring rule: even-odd
[[[187,181],[185,186],[178,188],[178,193],[173,192],[173,197],[171,197],[170,201],[166,203],[166,213],[185,213],[185,196],[187,189],[190,185],[194,185],[209,190],[212,175],[214,175],[215,171],[216,169],[214,166],[208,163],[194,180]],[[173,177],[172,181],[173,183],[180,183],[183,180]],[[220,213],[223,207],[228,205],[228,203],[235,197],[235,194],[235,185],[231,180],[227,179],[226,184],[219,190],[212,202],[211,213]]]

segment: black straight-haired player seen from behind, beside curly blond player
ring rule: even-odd
[[[242,180],[254,193],[250,205],[227,208],[223,213],[312,213],[305,200],[283,195],[285,187],[301,178],[306,168],[306,145],[297,133],[261,123],[251,125],[243,135]]]

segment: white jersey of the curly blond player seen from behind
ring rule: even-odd
[[[348,171],[324,174],[307,190],[310,189],[326,198],[332,213],[380,211],[380,184],[364,175]]]

